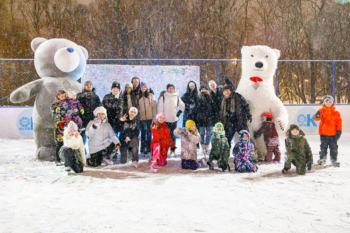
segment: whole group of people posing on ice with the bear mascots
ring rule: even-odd
[[[170,157],[175,156],[175,140],[179,137],[183,169],[196,170],[208,165],[210,170],[214,170],[217,165],[224,172],[229,172],[230,144],[238,132],[239,142],[232,149],[235,170],[256,172],[257,152],[247,127],[247,122],[252,121],[250,105],[235,92],[235,85],[228,77],[222,75],[222,78],[226,82],[224,86],[209,81],[210,89],[207,85],[201,85],[199,91],[197,84],[190,81],[181,98],[175,85],[169,83],[166,90],[161,92],[158,103],[148,82],[140,82],[138,77],[125,85],[123,93],[120,83],[113,82],[111,93],[105,95],[102,102],[91,81],[85,82],[81,93],[70,89],[67,93],[59,90],[51,105],[55,119],[56,165],[62,165],[62,159],[66,171],[73,169],[80,173],[85,164],[92,167],[102,163],[112,165],[111,159],[117,158],[119,150],[121,163],[126,163],[130,158],[132,165],[138,168],[141,151],[141,156],[149,157],[151,170],[157,172],[158,166],[167,164],[169,149]],[[331,96],[324,96],[323,103],[323,108],[315,115],[316,121],[321,120],[322,134],[318,163],[325,163],[329,146],[332,164],[339,166],[337,140],[341,134],[341,117],[335,110]],[[176,128],[181,114],[183,127]],[[254,138],[264,134],[267,149],[265,161],[280,162],[280,144],[273,117],[265,112],[261,119],[262,126],[254,132]],[[306,167],[311,169],[313,160],[307,140],[303,137],[304,132],[292,124],[287,134],[285,168],[282,172],[287,172],[293,163],[298,174],[305,174]],[[86,154],[84,147],[87,138],[90,155]],[[198,148],[202,153],[209,154],[209,160],[204,156],[197,161]]]

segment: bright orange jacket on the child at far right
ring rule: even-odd
[[[320,111],[321,117],[317,119],[314,116],[315,121],[321,121],[318,134],[334,136],[337,130],[342,130],[342,117],[334,106],[328,108],[323,105],[322,109],[318,109],[318,111]]]

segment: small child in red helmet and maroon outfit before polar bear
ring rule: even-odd
[[[269,112],[261,114],[262,125],[258,131],[254,132],[254,138],[258,138],[264,133],[264,142],[266,145],[266,162],[279,162],[281,160],[281,152],[278,148],[280,145],[280,139],[278,137],[275,123],[272,122],[272,115]],[[275,158],[272,159],[272,153],[275,154]]]

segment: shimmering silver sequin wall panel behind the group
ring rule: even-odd
[[[170,82],[174,83],[180,98],[186,92],[189,81],[195,81],[198,86],[200,70],[199,66],[86,65],[81,83],[90,80],[96,89],[96,94],[102,100],[111,92],[112,82],[120,82],[121,91],[124,92],[125,84],[133,77],[138,77],[140,81],[146,80],[158,101],[161,91],[165,90]],[[182,115],[178,127],[182,127]]]

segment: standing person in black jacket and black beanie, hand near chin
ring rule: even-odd
[[[112,92],[103,97],[102,104],[107,110],[109,116],[108,122],[111,124],[114,132],[118,134],[120,129],[120,118],[123,117],[124,99],[120,95],[120,83],[112,83]]]

